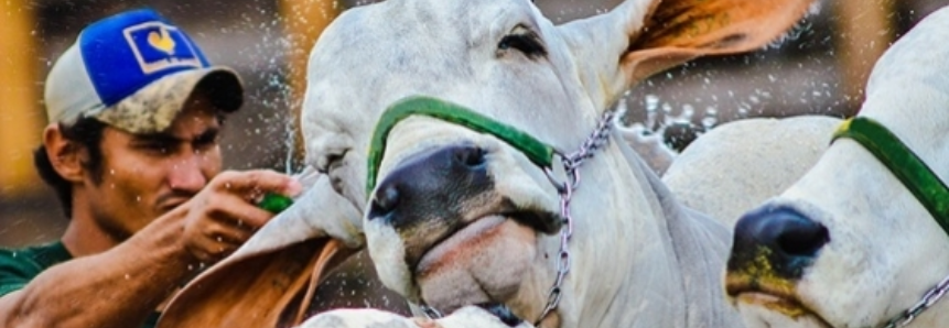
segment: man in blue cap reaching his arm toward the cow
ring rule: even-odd
[[[270,220],[263,194],[300,193],[274,172],[218,174],[241,83],[151,10],[87,26],[45,88],[34,156],[69,223],[57,242],[0,251],[0,327],[153,326],[177,287]]]

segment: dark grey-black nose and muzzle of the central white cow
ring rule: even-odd
[[[495,188],[492,154],[473,144],[422,151],[398,164],[379,183],[369,205],[369,220],[385,220],[406,243],[410,265],[431,247],[478,219],[499,216],[543,233],[560,231],[559,215],[519,208]]]

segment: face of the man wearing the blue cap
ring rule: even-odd
[[[195,92],[161,133],[103,132],[103,172],[85,178],[94,219],[125,240],[188,200],[220,172],[217,110]]]

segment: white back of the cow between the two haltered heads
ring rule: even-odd
[[[755,118],[715,127],[687,146],[662,175],[676,198],[727,227],[797,182],[830,145],[841,120],[823,116]]]

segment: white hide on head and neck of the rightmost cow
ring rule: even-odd
[[[949,181],[949,9],[897,41],[876,63],[859,112],[896,134]],[[815,167],[768,205],[823,225],[830,241],[796,286],[797,319],[738,302],[752,327],[882,327],[949,274],[949,237],[903,184],[853,140],[834,142]],[[764,298],[759,298],[764,299]],[[949,302],[908,327],[949,326]]]

